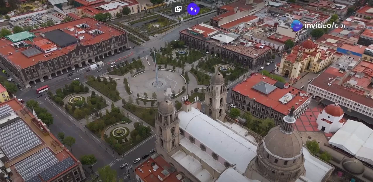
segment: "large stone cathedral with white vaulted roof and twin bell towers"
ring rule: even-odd
[[[282,125],[255,141],[225,124],[227,94],[223,75],[214,73],[206,91],[206,114],[189,101],[176,112],[165,97],[155,122],[159,156],[192,182],[327,181],[334,167],[303,146],[293,127],[294,107]]]

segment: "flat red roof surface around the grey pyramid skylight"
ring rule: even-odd
[[[245,81],[242,81],[242,83],[238,84],[232,90],[235,92],[238,92],[241,95],[247,96],[250,99],[255,98],[256,102],[263,104],[266,107],[272,107],[272,109],[282,114],[288,114],[292,106],[294,106],[295,109],[297,109],[299,106],[305,103],[305,101],[311,98],[311,97],[307,97],[306,95],[301,96],[300,94],[298,94],[298,92],[303,93],[303,94],[306,94],[306,92],[298,90],[297,88],[294,88],[291,86],[289,86],[288,88],[283,88],[283,89],[276,88],[275,90],[270,92],[268,95],[265,95],[264,93],[254,90],[252,88],[254,85],[258,84],[260,81],[266,82],[271,85],[277,82],[277,80],[265,77],[258,73],[246,79]],[[279,99],[289,92],[291,92],[291,94],[293,95],[297,94],[297,96],[295,96],[288,103],[282,104],[279,101]]]

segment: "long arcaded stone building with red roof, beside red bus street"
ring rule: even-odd
[[[0,40],[0,62],[27,88],[128,47],[126,32],[81,18]]]

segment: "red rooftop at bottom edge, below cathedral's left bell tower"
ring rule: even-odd
[[[152,163],[156,164],[159,168],[153,170],[153,166],[151,166]],[[140,172],[138,168],[140,168],[142,172]],[[167,161],[165,161],[161,156],[158,156],[155,159],[150,157],[149,159],[145,160],[144,163],[135,167],[135,173],[142,181],[145,182],[181,182],[181,180],[178,180],[176,177],[176,175],[179,175],[179,173],[176,171],[170,173],[168,170],[170,168],[171,165],[167,163]],[[167,170],[169,175],[164,176],[162,173],[163,170]],[[162,178],[162,180],[159,178]]]

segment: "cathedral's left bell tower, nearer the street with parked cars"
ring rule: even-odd
[[[178,116],[172,102],[167,100],[167,97],[159,103],[155,125],[157,152],[164,157],[168,154],[172,155],[180,142],[180,130]]]

